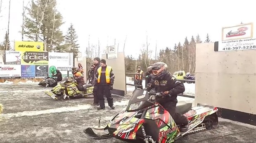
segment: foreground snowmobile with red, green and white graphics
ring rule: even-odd
[[[192,103],[177,104],[176,112],[189,120],[188,130],[180,131],[171,115],[156,102],[162,93],[136,89],[126,108],[119,112],[104,130],[109,134],[96,134],[91,128],[84,133],[95,139],[115,137],[137,143],[172,143],[182,136],[211,129],[218,124],[218,109],[209,105],[192,108]]]

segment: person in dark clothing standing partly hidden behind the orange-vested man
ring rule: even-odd
[[[91,106],[98,106],[100,104],[99,104],[98,97],[97,97],[97,95],[98,95],[97,83],[95,83],[94,78],[96,76],[97,70],[100,67],[100,58],[99,57],[94,58],[93,64],[94,64],[95,68],[94,68],[94,71],[93,71],[94,75],[93,75],[93,80],[92,80],[92,83],[94,85],[94,88],[93,88],[93,91],[92,91],[93,92],[93,104],[91,104]]]

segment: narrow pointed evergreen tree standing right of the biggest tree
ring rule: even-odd
[[[79,44],[77,44],[77,38],[78,36],[76,35],[76,30],[75,28],[73,28],[73,24],[71,23],[68,29],[68,32],[66,33],[66,36],[65,36],[65,42],[68,47],[66,51],[69,53],[73,53],[74,59],[76,58],[79,52],[78,50]],[[73,61],[75,62],[75,60]]]

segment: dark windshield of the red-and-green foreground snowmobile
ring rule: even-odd
[[[147,90],[136,89],[126,107],[126,111],[138,111],[145,107],[151,106],[152,102],[148,101],[149,94]]]

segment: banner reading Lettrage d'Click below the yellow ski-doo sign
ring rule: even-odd
[[[48,52],[23,52],[21,65],[48,65]]]

